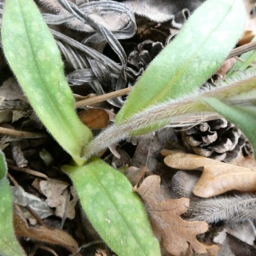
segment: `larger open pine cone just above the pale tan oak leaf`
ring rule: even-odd
[[[225,119],[203,122],[187,130],[178,130],[179,142],[189,151],[215,160],[229,162],[242,152],[253,154],[241,130]]]

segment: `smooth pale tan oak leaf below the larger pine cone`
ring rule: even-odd
[[[195,170],[203,167],[202,175],[193,189],[197,196],[208,198],[230,190],[256,192],[256,170],[176,150],[164,149],[161,154],[167,155],[166,165],[175,169]]]

